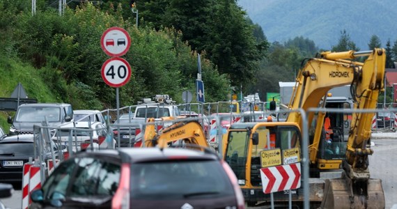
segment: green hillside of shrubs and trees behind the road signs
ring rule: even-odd
[[[125,29],[132,42],[123,56],[132,75],[120,87],[120,107],[155,94],[182,102],[183,91],[196,92],[198,53],[205,102],[230,100],[232,89],[244,95],[259,93],[265,100],[267,93],[279,91],[278,82],[295,79],[302,59],[320,51],[304,36],[268,42],[235,0],[139,0],[134,10],[130,0],[70,1],[62,15],[56,7],[59,1],[36,2],[32,13],[31,1],[0,1],[0,97],[9,97],[22,83],[39,102],[115,108],[115,88],[100,74],[109,59],[100,38],[111,26]],[[137,10],[138,20],[132,13]],[[349,35],[340,33],[333,49],[356,49]],[[378,46],[377,37],[370,43]],[[389,45],[388,52],[392,63],[396,45]],[[1,112],[1,125],[9,114]]]

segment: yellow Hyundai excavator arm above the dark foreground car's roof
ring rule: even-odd
[[[182,117],[181,117],[182,118]],[[163,117],[161,121],[176,121],[175,117]],[[159,122],[159,121],[157,121]],[[155,118],[148,118],[141,147],[166,148],[169,144],[193,144],[208,148],[207,140],[198,121],[179,121],[169,127],[156,130]]]

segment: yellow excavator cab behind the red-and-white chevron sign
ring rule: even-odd
[[[245,201],[254,204],[270,200],[270,194],[263,193],[260,169],[299,162],[301,136],[296,123],[234,123],[229,127],[223,157],[238,178]],[[299,151],[293,156],[284,155],[291,149]],[[288,194],[277,192],[277,198],[286,199]]]

